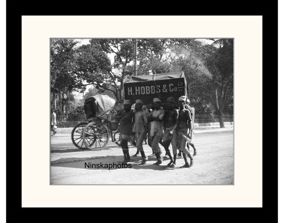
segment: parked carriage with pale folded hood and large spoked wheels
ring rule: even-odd
[[[120,146],[120,128],[115,115],[124,109],[123,101],[116,102],[108,95],[87,98],[84,103],[87,119],[72,129],[73,144],[79,149],[96,151],[105,148],[111,138]]]

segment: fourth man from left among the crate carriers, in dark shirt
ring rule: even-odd
[[[167,103],[163,104],[163,109],[165,111],[164,118],[163,118],[164,133],[159,143],[164,147],[166,151],[166,156],[170,158],[170,162],[167,164],[167,166],[170,166],[173,163],[173,160],[172,160],[172,156],[168,148],[172,140],[173,131],[176,128],[178,111],[174,109],[174,98],[173,97],[167,98],[166,101]]]

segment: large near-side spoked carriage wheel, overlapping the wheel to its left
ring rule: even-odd
[[[90,122],[83,130],[84,144],[92,150],[101,150],[109,142],[108,127],[100,122]]]

